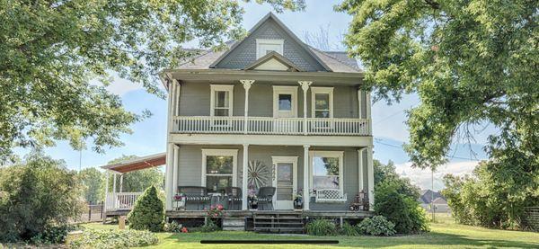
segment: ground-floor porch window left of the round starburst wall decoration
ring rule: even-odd
[[[235,187],[237,149],[202,150],[202,185],[210,191]]]

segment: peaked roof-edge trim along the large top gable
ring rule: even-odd
[[[234,49],[236,49],[238,46],[240,46],[243,41],[247,40],[247,38],[249,36],[252,35],[252,33],[254,31],[256,31],[258,28],[261,27],[261,25],[264,23],[264,22],[267,22],[269,19],[272,19],[273,21],[275,21],[278,25],[279,28],[281,28],[283,31],[285,31],[287,33],[288,36],[290,36],[292,38],[292,40],[294,42],[296,42],[302,49],[305,50],[305,52],[310,55],[312,58],[314,58],[314,60],[316,60],[316,62],[318,62],[326,71],[328,72],[332,72],[331,68],[328,67],[321,58],[319,58],[318,56],[316,56],[314,54],[314,52],[309,49],[307,47],[307,45],[299,40],[299,38],[297,38],[297,36],[292,32],[290,31],[287,26],[281,22],[280,20],[278,20],[277,16],[275,16],[275,14],[273,13],[268,13],[266,14],[266,16],[264,16],[261,21],[257,22],[256,25],[254,25],[254,27],[252,27],[252,29],[249,31],[249,35],[247,35],[247,37],[243,38],[243,40],[238,40],[236,42],[234,42],[234,44],[232,45],[232,47],[228,50],[225,51],[225,53],[223,53],[219,58],[216,59],[216,61],[214,61],[210,66],[209,68],[215,68],[217,64],[219,64],[219,62],[221,62],[224,58],[226,58],[232,51],[234,51]]]

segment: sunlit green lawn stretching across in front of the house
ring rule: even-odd
[[[238,245],[201,245],[200,240],[228,239],[228,240],[270,240],[270,239],[337,239],[339,245],[256,245],[257,248],[327,248],[329,246],[340,248],[351,247],[389,247],[389,248],[538,248],[539,233],[507,231],[472,227],[455,224],[447,215],[436,215],[436,222],[431,223],[431,232],[413,236],[291,236],[291,235],[263,235],[252,232],[226,232],[215,233],[189,233],[170,234],[159,233],[160,244],[152,248],[237,248]],[[117,229],[118,226],[87,224],[85,227],[94,229]],[[252,247],[251,245],[248,245]]]

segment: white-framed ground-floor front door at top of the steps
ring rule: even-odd
[[[273,161],[273,196],[275,209],[294,209],[297,192],[297,156],[271,156]]]

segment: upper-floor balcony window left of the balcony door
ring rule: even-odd
[[[232,116],[234,85],[211,84],[210,115]]]

